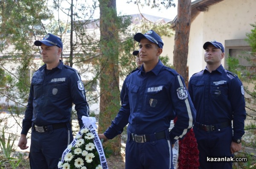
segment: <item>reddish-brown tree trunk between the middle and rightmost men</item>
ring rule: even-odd
[[[188,86],[187,58],[189,51],[189,31],[191,18],[191,0],[178,0],[177,23],[175,24],[175,45],[173,51],[173,65],[175,70],[183,76]]]

